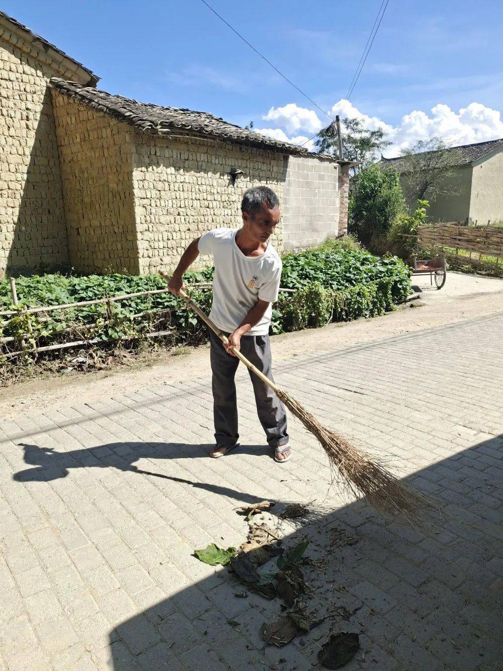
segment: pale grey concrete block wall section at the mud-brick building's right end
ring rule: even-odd
[[[338,234],[338,164],[315,156],[288,156],[283,207],[284,249],[300,250]]]

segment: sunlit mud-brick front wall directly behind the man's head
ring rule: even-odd
[[[231,168],[243,171],[232,185]],[[241,226],[241,198],[252,186],[268,185],[282,203],[282,154],[215,140],[166,140],[137,134],[133,188],[139,272],[172,270],[186,246],[213,228]],[[283,227],[272,240],[283,249]],[[199,257],[194,268],[211,263]]]

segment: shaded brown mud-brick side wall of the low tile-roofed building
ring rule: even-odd
[[[52,91],[70,264],[82,273],[139,272],[125,123]]]

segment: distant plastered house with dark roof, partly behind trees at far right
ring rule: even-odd
[[[430,221],[479,225],[503,221],[503,138],[463,144],[447,151],[453,157],[453,169],[443,178],[445,194],[425,194],[425,199],[430,201]],[[405,186],[406,164],[402,158],[383,157],[381,161],[384,167],[398,170]],[[412,207],[414,203],[408,205]]]

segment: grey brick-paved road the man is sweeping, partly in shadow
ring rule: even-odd
[[[210,460],[201,378],[0,424],[1,650],[9,670],[309,669],[329,631],[347,668],[498,669],[503,606],[503,315],[282,362],[276,378],[327,423],[441,501],[424,535],[344,497],[311,435],[272,462],[239,377],[240,452]],[[242,502],[323,501],[311,526],[309,636],[266,648],[278,600],[191,556],[239,544]],[[340,529],[355,544],[337,541]],[[336,611],[334,609],[337,609]],[[281,662],[280,660],[284,660]]]

